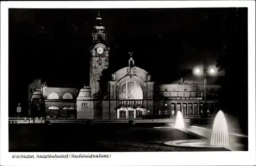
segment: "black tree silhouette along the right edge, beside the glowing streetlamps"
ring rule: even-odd
[[[221,108],[238,117],[240,126],[248,132],[248,50],[247,9],[231,8],[228,18],[228,40],[225,53],[219,56],[217,67],[225,72],[221,77],[219,101]],[[239,102],[236,102],[236,101]],[[235,102],[235,103],[234,103]]]

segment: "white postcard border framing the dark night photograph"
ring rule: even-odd
[[[111,153],[108,159],[12,159],[8,152],[8,8],[202,8],[248,7],[248,152]],[[246,55],[241,55],[246,56]],[[236,98],[234,98],[236,100]],[[0,165],[255,165],[255,1],[1,2]],[[23,153],[24,154],[24,153]],[[38,153],[34,153],[38,154]],[[56,153],[50,153],[56,154]],[[103,154],[103,153],[101,153]],[[186,154],[186,155],[185,155]],[[133,158],[133,159],[131,159]]]

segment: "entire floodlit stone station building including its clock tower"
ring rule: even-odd
[[[29,85],[30,103],[38,98],[44,99],[47,114],[69,114],[77,119],[172,117],[178,111],[183,116],[200,116],[205,102],[209,114],[218,112],[219,85],[207,85],[205,101],[201,82],[181,78],[173,84],[156,84],[150,73],[136,66],[132,53],[127,66],[113,73],[112,80],[102,83],[102,73],[109,67],[110,48],[101,20],[98,14],[92,33],[90,87],[48,87],[46,82],[36,79]],[[101,87],[103,84],[107,85],[106,88]],[[29,112],[31,114],[31,108]]]

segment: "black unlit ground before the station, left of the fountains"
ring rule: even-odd
[[[164,142],[199,139],[166,124],[9,124],[10,152],[228,151],[169,147]]]

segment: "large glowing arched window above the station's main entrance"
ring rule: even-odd
[[[135,81],[124,82],[119,89],[120,100],[142,100],[143,91],[140,85]]]

